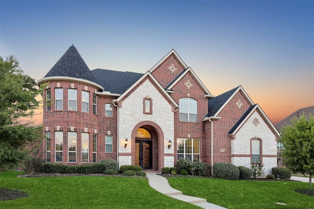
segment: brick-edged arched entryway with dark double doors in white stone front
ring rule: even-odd
[[[163,166],[163,134],[152,121],[138,123],[132,131],[132,164],[142,169],[160,170]],[[162,162],[159,161],[162,159]]]

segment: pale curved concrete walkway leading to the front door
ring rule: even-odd
[[[204,209],[226,209],[221,206],[208,203],[206,199],[184,195],[182,191],[172,188],[169,185],[168,180],[162,176],[157,175],[157,173],[146,173],[146,177],[148,178],[148,183],[152,188],[169,197],[194,204]]]

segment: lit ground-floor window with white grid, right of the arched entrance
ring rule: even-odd
[[[200,160],[200,139],[177,139],[178,159]]]

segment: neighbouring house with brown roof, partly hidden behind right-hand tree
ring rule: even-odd
[[[297,111],[295,111],[294,113],[290,114],[289,116],[285,117],[283,120],[281,120],[280,122],[278,122],[275,127],[277,128],[277,130],[279,130],[279,132],[281,133],[282,128],[284,126],[287,125],[291,125],[291,120],[294,117],[299,118],[299,116],[301,116],[302,114],[304,114],[307,118],[309,118],[310,114],[312,114],[314,116],[314,106],[310,106],[310,107],[305,107],[305,108],[301,108],[298,109]],[[284,149],[284,144],[282,141],[277,141],[277,166],[278,167],[284,167],[284,161],[283,158],[281,157],[281,153],[282,150]]]

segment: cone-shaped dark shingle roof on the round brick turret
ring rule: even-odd
[[[55,76],[80,78],[99,83],[73,45],[62,55],[44,78]]]

